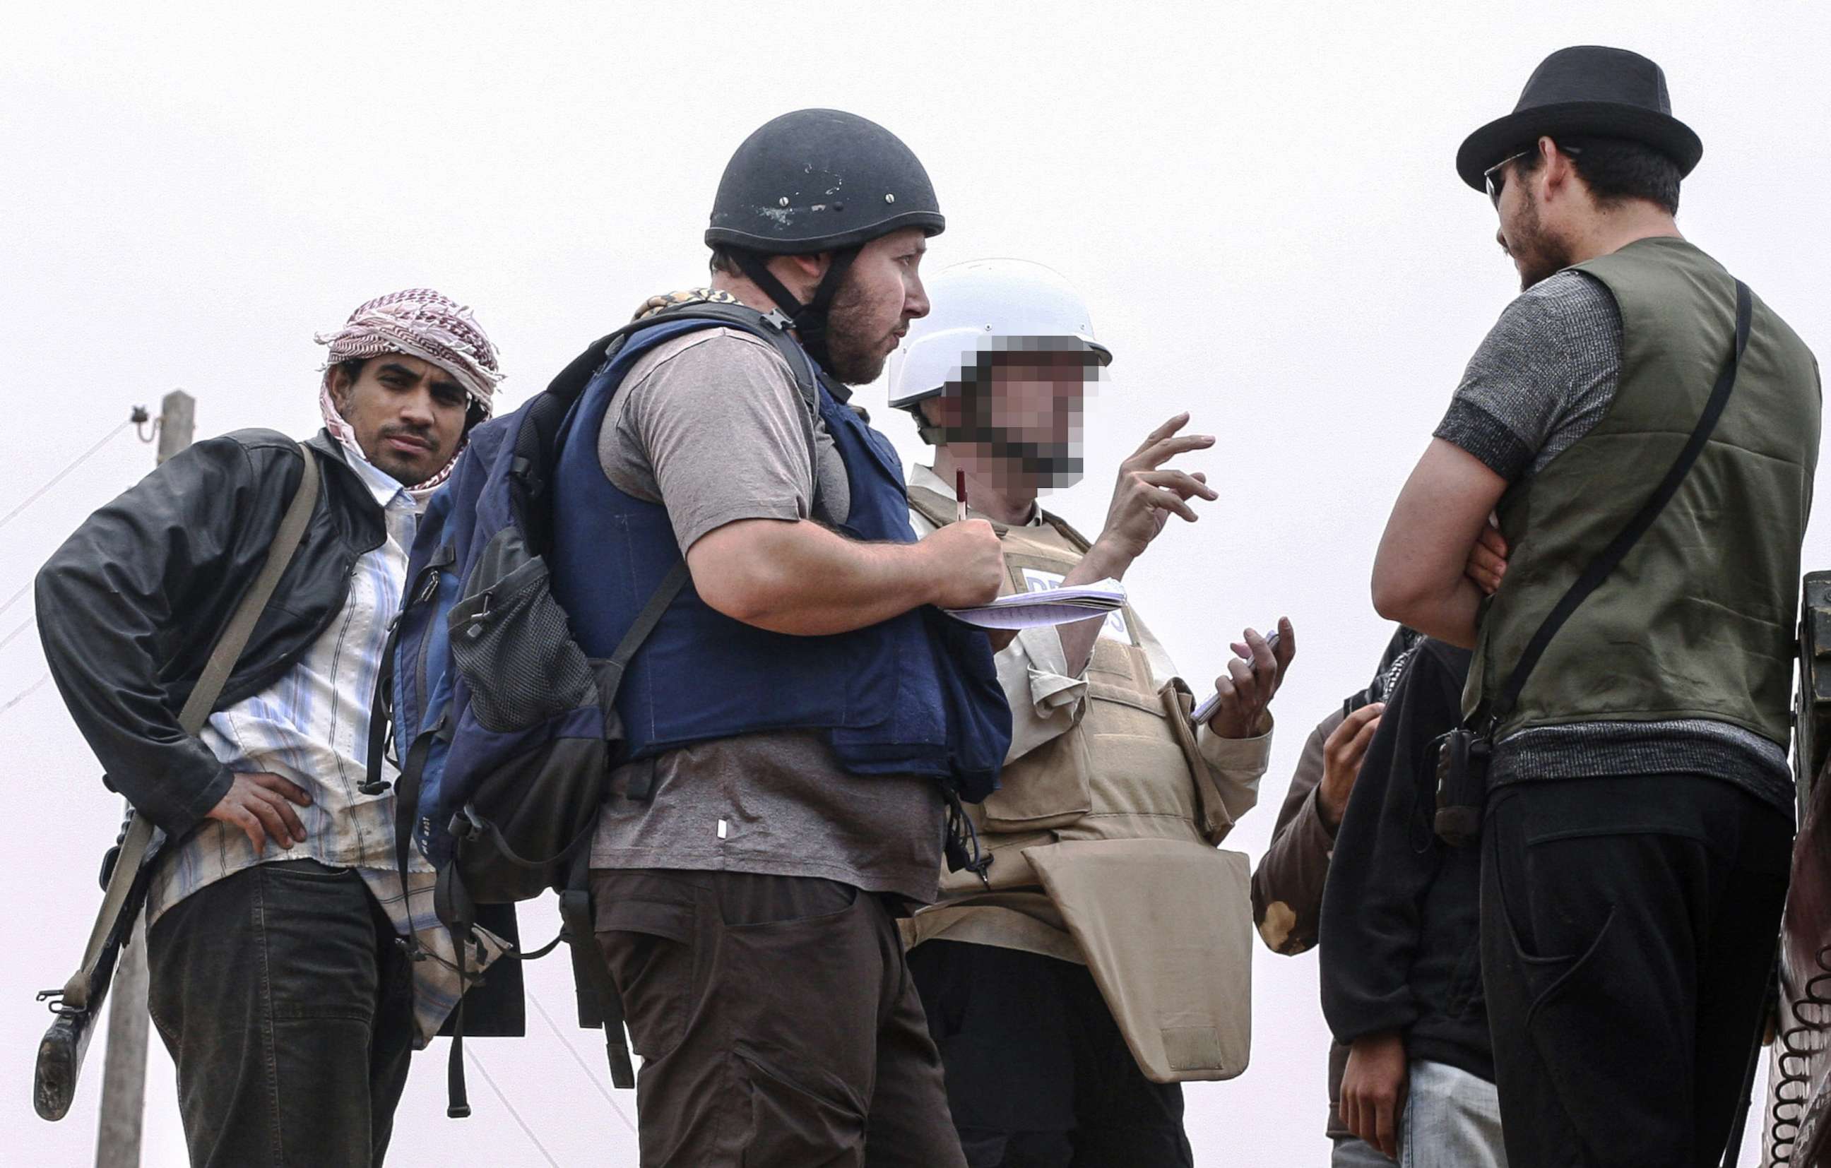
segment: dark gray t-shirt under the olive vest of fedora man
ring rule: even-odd
[[[1562,271],[1523,291],[1468,361],[1436,436],[1518,483],[1595,428],[1620,383],[1620,309],[1595,276]],[[1608,584],[1604,584],[1608,588]],[[1780,743],[1727,721],[1587,721],[1511,734],[1494,782],[1710,774],[1793,809]]]

